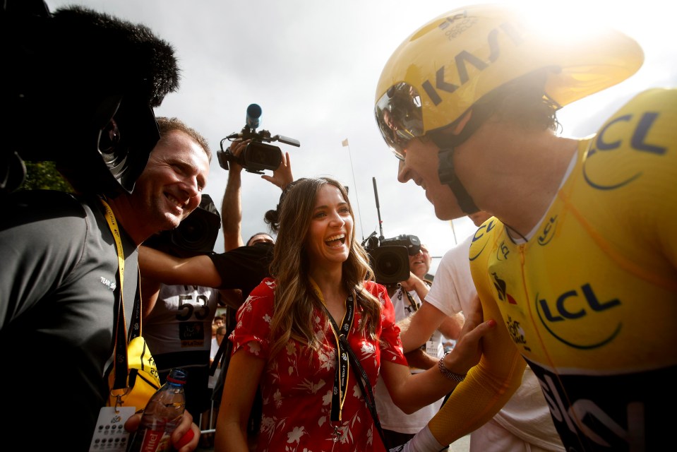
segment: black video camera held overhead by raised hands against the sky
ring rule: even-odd
[[[246,124],[239,133],[232,133],[231,135],[221,140],[221,150],[217,150],[216,155],[219,158],[219,165],[223,169],[229,169],[228,162],[237,162],[248,172],[256,174],[263,174],[264,169],[272,169],[275,171],[280,167],[282,162],[282,150],[277,146],[266,144],[272,141],[280,141],[280,143],[289,144],[299,147],[301,143],[294,138],[287,138],[282,135],[270,136],[267,130],[260,130],[261,107],[258,104],[251,104],[247,107]],[[250,140],[244,151],[240,155],[234,155],[230,148],[223,148],[224,141],[232,141],[241,138],[242,140]],[[264,141],[266,143],[264,143]]]

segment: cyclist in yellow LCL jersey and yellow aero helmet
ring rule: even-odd
[[[378,81],[400,182],[422,186],[441,220],[494,215],[469,259],[485,319],[505,326],[405,451],[491,419],[527,362],[568,451],[672,442],[677,90],[635,95],[594,136],[558,136],[558,109],[643,61],[620,32],[575,28],[549,36],[505,6],[460,8],[412,33]]]

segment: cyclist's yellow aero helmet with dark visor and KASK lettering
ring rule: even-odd
[[[548,18],[553,23],[553,18]],[[376,122],[395,155],[414,137],[462,117],[492,90],[551,69],[545,93],[564,105],[633,75],[644,61],[639,44],[608,28],[571,23],[558,35],[504,5],[459,8],[429,21],[397,47],[376,87]]]

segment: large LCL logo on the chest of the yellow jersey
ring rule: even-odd
[[[620,306],[618,298],[599,299],[589,283],[555,299],[536,295],[536,311],[546,330],[561,343],[584,350],[601,347],[621,332],[620,322],[613,325],[609,321],[599,321],[599,315]],[[576,322],[576,328],[572,322]]]

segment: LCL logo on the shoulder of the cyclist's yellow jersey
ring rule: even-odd
[[[623,177],[615,180],[604,179],[609,176],[604,155],[607,151],[628,149],[653,155],[664,155],[667,149],[649,143],[647,136],[659,114],[655,112],[642,112],[641,114],[623,114],[611,119],[597,133],[592,148],[588,151],[583,162],[583,176],[585,181],[598,190],[614,190],[625,186],[642,176],[641,169],[628,167],[629,171]],[[636,121],[632,135],[628,136],[629,126],[626,123]],[[631,126],[632,124],[630,124]],[[599,169],[599,171],[597,171]]]

